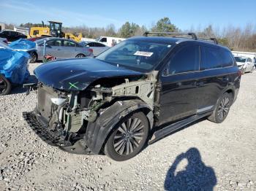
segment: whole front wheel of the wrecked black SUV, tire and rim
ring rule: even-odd
[[[135,157],[148,138],[148,119],[143,112],[124,117],[110,134],[105,144],[105,155],[116,161]]]

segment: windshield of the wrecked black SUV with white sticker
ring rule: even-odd
[[[106,50],[97,59],[140,71],[151,71],[158,65],[172,44],[125,40]]]

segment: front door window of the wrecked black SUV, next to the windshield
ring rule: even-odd
[[[182,47],[169,62],[169,74],[199,70],[199,47],[197,45]]]

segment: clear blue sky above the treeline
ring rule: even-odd
[[[182,30],[208,24],[222,28],[256,23],[256,0],[0,0],[0,10],[1,22],[16,25],[58,20],[64,26],[101,27],[113,23],[119,28],[129,21],[150,28],[162,17],[169,17]]]

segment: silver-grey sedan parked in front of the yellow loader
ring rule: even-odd
[[[56,37],[50,37],[45,39],[39,39],[35,41],[37,43],[37,60],[42,60],[44,51],[44,41],[46,40],[45,55],[53,55],[57,59],[59,58],[83,58],[93,57],[93,50],[89,47],[83,47],[78,42],[61,39]]]

